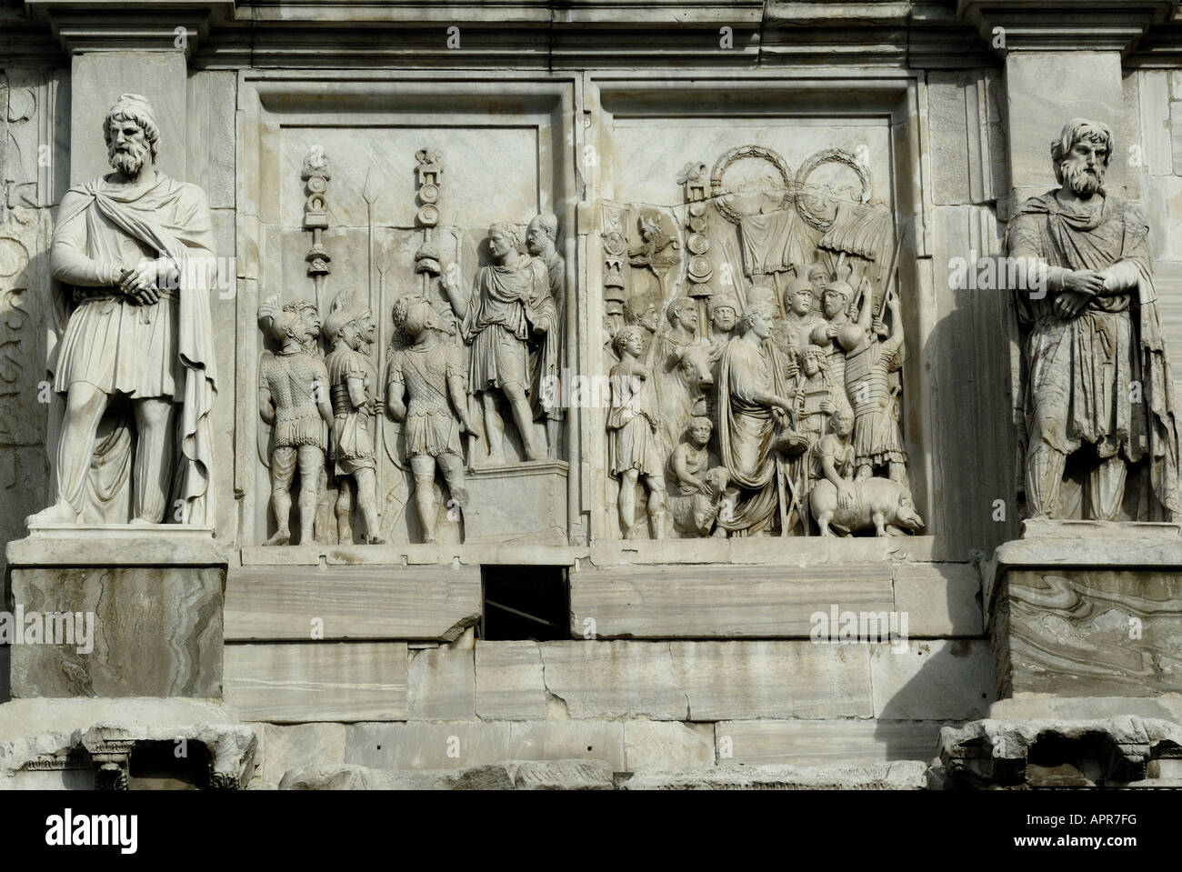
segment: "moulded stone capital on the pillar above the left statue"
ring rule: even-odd
[[[233,2],[145,0],[121,9],[87,0],[28,0],[28,13],[47,24],[70,54],[80,52],[176,52],[191,57],[215,19]]]

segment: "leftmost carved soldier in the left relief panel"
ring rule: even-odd
[[[332,425],[329,371],[316,354],[305,351],[310,326],[297,312],[273,310],[267,301],[259,321],[282,343],[277,354],[259,366],[259,415],[273,429],[271,451],[271,509],[277,531],[265,545],[286,545],[291,533],[291,484],[299,466],[299,522],[301,539],[312,540],[320,501],[320,475],[327,449],[326,428]],[[299,541],[296,542],[299,545]]]

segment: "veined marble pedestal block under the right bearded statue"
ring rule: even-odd
[[[1061,717],[1065,697],[1182,711],[1180,525],[1027,521],[986,585],[998,716]]]

